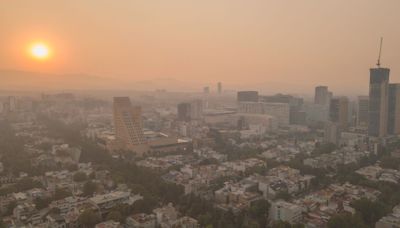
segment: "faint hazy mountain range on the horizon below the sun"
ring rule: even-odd
[[[173,78],[128,81],[112,76],[52,74],[0,69],[0,90],[156,90],[202,91],[203,86]]]

